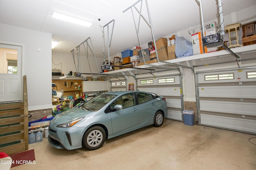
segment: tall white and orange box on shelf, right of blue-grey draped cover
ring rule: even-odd
[[[192,39],[192,47],[193,54],[203,54],[203,44],[202,44],[202,32],[200,31],[200,27],[194,28],[191,30],[191,39]]]

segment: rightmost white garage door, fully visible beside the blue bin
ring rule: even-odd
[[[200,125],[256,134],[256,69],[196,73]]]

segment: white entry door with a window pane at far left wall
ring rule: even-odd
[[[0,43],[0,102],[22,101],[22,46]]]

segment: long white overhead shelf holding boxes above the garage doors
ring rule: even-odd
[[[253,45],[246,45],[243,47],[237,47],[237,48],[232,48],[231,49],[234,53],[236,54],[243,54],[243,53],[256,53],[256,44]],[[182,58],[178,58],[178,59],[172,59],[172,60],[167,60],[165,62],[168,63],[180,63],[180,62],[184,62],[184,61],[195,61],[195,60],[204,60],[204,59],[212,59],[212,58],[216,58],[216,57],[224,57],[224,56],[230,56],[231,54],[226,51],[226,50],[220,50],[220,51],[216,51],[216,52],[211,52],[211,53],[204,53],[204,54],[200,54],[200,55],[192,55],[192,56],[188,56],[188,57],[182,57]],[[151,65],[155,65],[155,66],[160,66],[160,65],[165,65],[165,63],[152,63]],[[141,65],[141,66],[136,66],[136,67],[132,67],[132,68],[124,68],[121,70],[114,70],[114,71],[110,71],[110,72],[104,72],[105,74],[112,74],[112,73],[118,73],[118,72],[124,72],[124,71],[132,71],[132,70],[136,70],[136,68],[150,68],[151,66],[149,65]]]

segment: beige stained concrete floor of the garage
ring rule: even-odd
[[[36,164],[11,170],[255,170],[252,137],[256,135],[165,119],[162,127],[106,140],[93,151],[54,149],[44,138],[29,145]],[[256,138],[250,141],[256,144]]]

